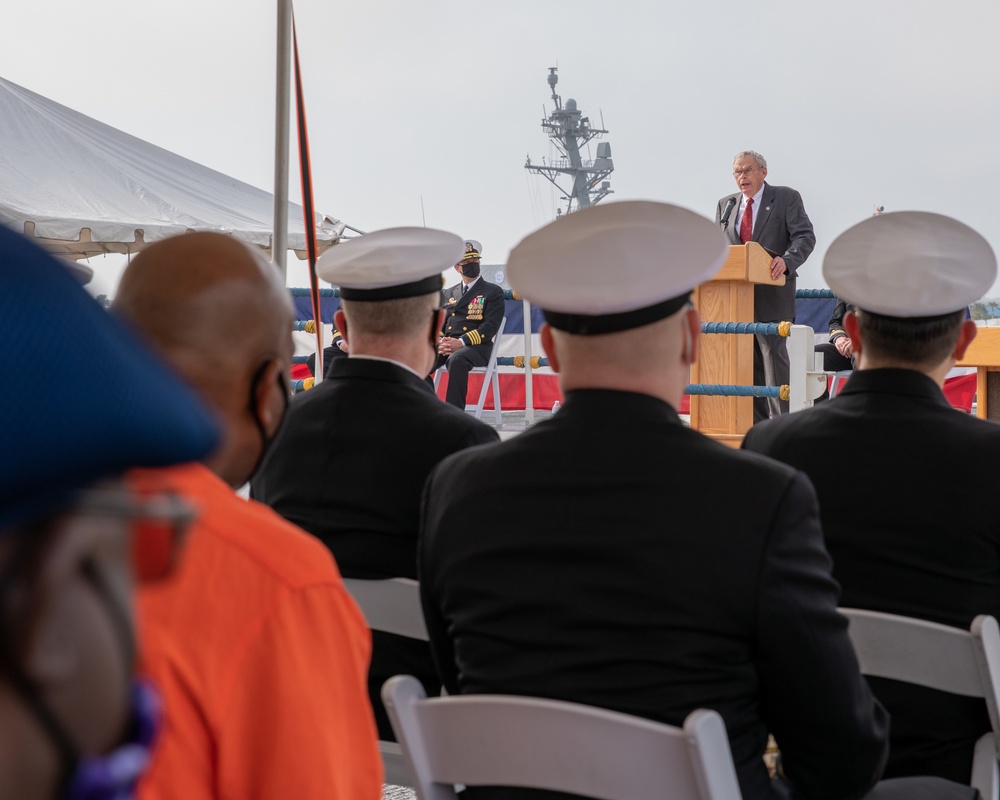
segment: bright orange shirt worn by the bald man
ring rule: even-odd
[[[377,800],[371,634],[329,551],[200,464],[136,471],[198,507],[138,592],[141,671],[165,724],[140,800]]]

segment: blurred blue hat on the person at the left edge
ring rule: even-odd
[[[0,535],[130,467],[202,458],[218,436],[66,267],[0,225]]]

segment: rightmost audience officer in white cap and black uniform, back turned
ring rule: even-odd
[[[854,374],[829,403],[754,426],[744,447],[809,475],[842,605],[965,629],[1000,617],[1000,426],[942,391],[976,335],[965,309],[996,274],[982,236],[925,212],[872,217],[827,250],[827,283],[856,305],[843,326]],[[869,683],[892,715],[886,774],[969,780],[990,729],[982,700]]]

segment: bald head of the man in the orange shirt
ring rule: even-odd
[[[187,233],[132,259],[114,308],[219,413],[228,442],[217,456],[226,463],[213,468],[230,482],[245,479],[246,462],[259,456],[261,424],[268,427],[261,404],[274,405],[270,395],[252,398],[259,373],[273,365],[273,389],[292,356],[295,314],[278,270],[229,236]],[[279,420],[280,411],[275,406]],[[231,469],[234,459],[240,463]]]

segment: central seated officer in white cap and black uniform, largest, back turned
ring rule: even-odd
[[[419,550],[431,644],[451,694],[550,697],[673,725],[712,708],[747,800],[789,785],[794,797],[857,798],[881,774],[888,717],[836,611],[812,486],[675,410],[697,356],[691,290],[725,256],[707,219],[651,202],[583,209],[514,249],[508,274],[543,309],[566,400],[432,473]],[[470,524],[482,500],[470,476],[517,502]],[[768,732],[778,783],[762,760]],[[920,779],[879,796],[918,797],[927,783],[972,793]],[[469,790],[536,796],[523,792]]]

